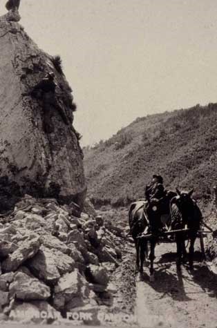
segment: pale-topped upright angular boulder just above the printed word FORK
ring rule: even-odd
[[[54,307],[59,310],[64,309],[73,298],[80,298],[82,283],[82,276],[77,269],[60,278],[54,289]]]

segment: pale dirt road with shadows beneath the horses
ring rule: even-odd
[[[144,327],[217,327],[216,274],[201,265],[199,251],[194,273],[187,266],[177,271],[175,251],[176,244],[156,247],[154,282],[149,281],[147,267],[142,277],[137,275],[138,323]]]

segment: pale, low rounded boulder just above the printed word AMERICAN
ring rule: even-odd
[[[9,292],[10,298],[18,300],[46,300],[50,297],[50,288],[44,282],[22,272],[15,274]]]

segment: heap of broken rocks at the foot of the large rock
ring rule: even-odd
[[[105,226],[86,202],[77,206],[25,195],[0,219],[2,320],[50,323],[78,307],[97,307],[112,292],[109,278],[120,263],[118,229]],[[90,214],[91,212],[91,214]],[[51,313],[39,318],[34,313]],[[25,318],[23,318],[25,313]]]

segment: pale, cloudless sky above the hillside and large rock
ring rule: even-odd
[[[39,48],[62,57],[83,146],[217,101],[217,0],[21,0],[19,11]]]

